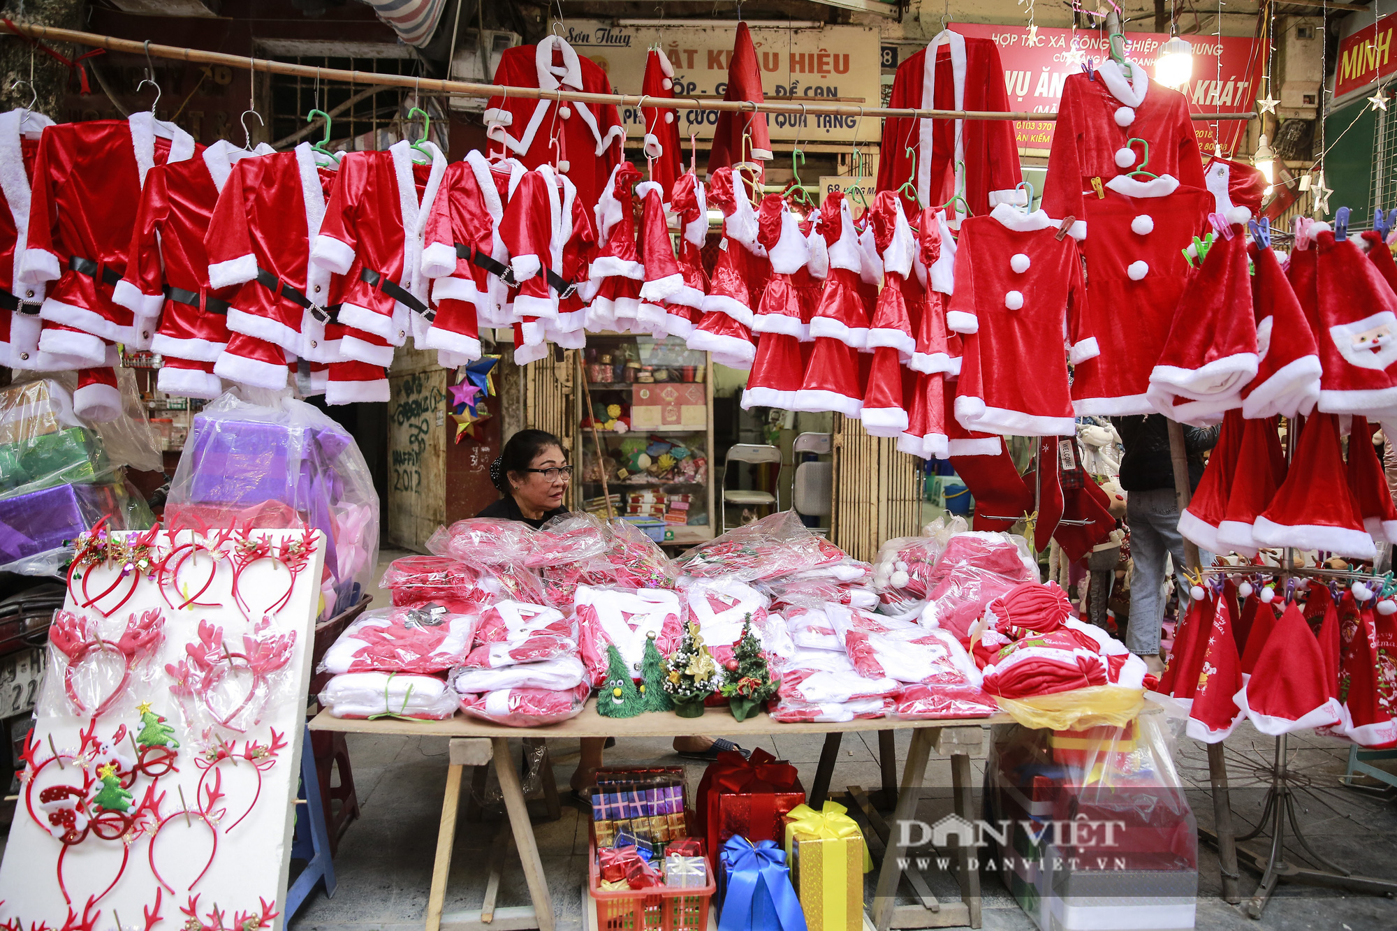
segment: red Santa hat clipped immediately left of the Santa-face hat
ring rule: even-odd
[[[1270,246],[1252,243],[1252,306],[1256,316],[1256,377],[1242,389],[1249,418],[1309,415],[1319,401],[1320,362],[1315,333]]]

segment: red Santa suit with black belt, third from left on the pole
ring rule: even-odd
[[[228,347],[233,289],[208,287],[204,236],[233,165],[271,154],[265,144],[249,152],[219,140],[200,158],[156,165],[145,175],[126,277],[112,298],[136,313],[163,303],[151,352],[163,359],[156,387],[166,394],[211,400],[224,390],[214,363]]]

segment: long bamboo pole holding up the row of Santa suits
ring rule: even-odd
[[[766,101],[754,103],[752,101],[705,101],[698,98],[676,96],[658,98],[644,94],[588,94],[584,91],[543,91],[536,87],[506,87],[500,84],[479,84],[474,81],[446,81],[440,78],[422,78],[411,74],[376,74],[372,71],[346,71],[342,68],[321,68],[306,64],[289,64],[286,62],[271,62],[268,59],[243,57],[239,55],[225,55],[222,52],[204,52],[201,49],[177,48],[172,45],[155,45],[154,42],[136,42],[134,39],[117,39],[95,32],[80,32],[78,29],[59,29],[56,27],[39,25],[35,22],[8,22],[6,29],[15,35],[25,35],[31,39],[46,39],[49,42],[73,42],[108,52],[127,52],[131,55],[149,55],[155,59],[173,59],[177,62],[194,62],[200,64],[224,64],[231,68],[263,71],[267,74],[286,74],[291,77],[320,78],[323,81],[344,81],[348,84],[379,84],[384,87],[407,87],[415,91],[447,95],[447,96],[506,96],[522,99],[570,101],[577,103],[612,103],[615,106],[664,106],[678,110],[728,110],[749,113],[785,113],[789,116],[870,116],[870,117],[904,117],[904,119],[961,119],[961,120],[1027,120],[1037,123],[1051,123],[1058,119],[1058,113],[1034,113],[1028,110],[996,112],[996,110],[919,110],[895,109],[887,106],[858,106],[854,103],[781,103]],[[0,35],[4,35],[0,32]],[[1253,120],[1256,113],[1193,113],[1193,119],[1203,122],[1214,120]]]

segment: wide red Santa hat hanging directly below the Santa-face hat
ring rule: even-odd
[[[1333,414],[1305,421],[1295,459],[1271,506],[1252,527],[1264,547],[1324,549],[1372,559],[1376,554],[1348,489],[1338,422]]]

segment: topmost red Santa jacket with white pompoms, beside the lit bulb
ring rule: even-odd
[[[1151,81],[1140,66],[1132,67],[1129,80],[1115,62],[1097,68],[1095,81],[1069,74],[1048,155],[1042,200],[1048,215],[1081,222],[1087,194],[1099,196],[1099,186],[1141,164],[1141,147],[1136,144],[1133,152],[1126,147],[1132,137],[1150,144],[1150,172],[1172,175],[1186,187],[1204,186],[1199,140],[1182,94]],[[1073,235],[1080,238],[1081,231]]]

